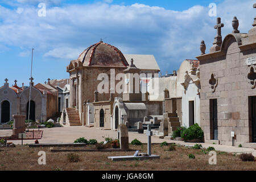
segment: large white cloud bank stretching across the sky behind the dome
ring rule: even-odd
[[[124,6],[97,2],[47,6],[47,16],[39,17],[38,2],[18,0],[19,9],[15,10],[0,6],[0,43],[33,46],[45,57],[76,59],[86,47],[106,37],[107,43],[123,53],[154,54],[165,72],[179,68],[184,59],[200,55],[201,40],[205,40],[209,50],[216,35],[213,28],[216,17],[209,17],[209,8],[199,5],[185,11],[172,11],[139,3]],[[233,16],[240,20],[241,32],[251,28],[256,14],[252,5],[250,0],[226,0],[218,4],[217,16],[225,24],[223,39],[232,32]]]

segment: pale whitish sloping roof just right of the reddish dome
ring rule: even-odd
[[[154,55],[123,55],[128,64],[131,64],[131,59],[139,69],[160,71],[159,65],[155,60]]]

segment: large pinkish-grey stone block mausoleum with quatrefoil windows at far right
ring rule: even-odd
[[[256,4],[254,4],[254,8]],[[205,142],[256,147],[256,17],[247,33],[234,30],[222,41],[221,18],[210,52],[201,43],[200,112]],[[234,137],[232,135],[234,134]]]

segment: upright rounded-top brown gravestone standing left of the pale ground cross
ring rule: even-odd
[[[118,126],[118,133],[121,150],[129,150],[129,136],[127,126],[124,124],[120,124]]]

